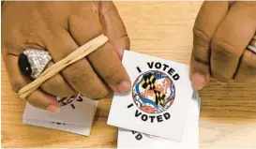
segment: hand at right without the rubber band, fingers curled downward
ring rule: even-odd
[[[194,24],[190,78],[201,90],[210,77],[220,82],[256,78],[256,2],[204,2]],[[255,44],[255,42],[254,42]]]

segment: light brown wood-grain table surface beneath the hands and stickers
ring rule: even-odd
[[[202,2],[115,2],[131,51],[189,64],[192,27]],[[98,104],[90,137],[22,122],[25,102],[14,94],[2,65],[2,147],[116,147],[116,127],[106,125],[112,97]],[[256,83],[221,85],[200,92],[200,146],[256,147]]]

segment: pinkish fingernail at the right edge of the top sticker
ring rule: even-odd
[[[205,76],[202,73],[196,72],[192,75],[192,84],[195,90],[202,90],[205,82]]]

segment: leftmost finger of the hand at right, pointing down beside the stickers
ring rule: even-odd
[[[194,89],[201,90],[210,80],[210,44],[218,24],[222,22],[229,2],[204,2],[193,28],[193,50],[190,78]]]

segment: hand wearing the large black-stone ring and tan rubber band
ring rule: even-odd
[[[130,81],[121,63],[124,50],[129,49],[126,28],[112,2],[5,2],[2,55],[13,90],[18,92],[32,82],[18,67],[18,56],[25,49],[50,52],[50,67],[100,34],[107,35],[109,42],[66,67],[27,97],[40,109],[58,112],[55,97],[77,93],[105,97],[108,86],[114,92],[128,92]]]

